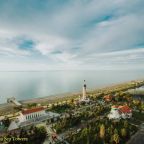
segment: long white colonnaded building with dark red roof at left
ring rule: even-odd
[[[8,131],[18,129],[20,127],[37,124],[46,120],[56,120],[60,115],[53,112],[46,112],[44,107],[36,107],[25,109],[19,113],[19,116],[10,123]]]

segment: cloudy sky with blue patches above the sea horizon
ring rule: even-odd
[[[144,70],[144,0],[0,0],[0,71]]]

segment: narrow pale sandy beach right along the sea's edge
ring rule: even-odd
[[[134,82],[142,82],[144,85],[144,80],[131,80],[131,81],[125,81],[125,82],[120,82],[120,83],[116,83],[116,84],[110,84],[108,86],[102,86],[102,87],[98,87],[98,88],[93,88],[93,89],[88,89],[87,93],[95,93],[98,94],[99,91],[107,91],[107,90],[112,90],[115,89],[117,87],[123,86],[123,85],[128,85],[130,83],[134,83]],[[61,93],[61,94],[54,94],[54,95],[49,95],[49,96],[44,96],[44,97],[37,97],[37,98],[31,98],[31,99],[25,99],[25,100],[18,100],[18,102],[20,102],[22,105],[26,105],[26,104],[31,104],[31,103],[55,103],[58,101],[63,101],[63,100],[69,100],[72,98],[76,98],[79,95],[81,95],[82,92],[67,92],[67,93]],[[3,107],[7,107],[10,105],[14,105],[14,104],[9,104],[9,103],[1,103],[0,104],[0,109]]]

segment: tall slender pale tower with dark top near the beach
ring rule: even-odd
[[[83,90],[82,90],[82,97],[79,99],[79,102],[84,102],[84,103],[89,103],[90,102],[90,99],[87,98],[86,96],[86,89],[87,89],[87,85],[85,83],[85,80],[84,80],[84,85],[83,85]]]

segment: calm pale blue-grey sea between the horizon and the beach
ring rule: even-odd
[[[141,78],[143,71],[0,72],[0,103],[81,91],[84,79],[92,89]]]

